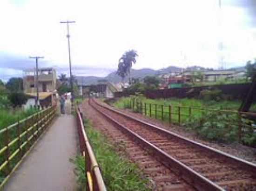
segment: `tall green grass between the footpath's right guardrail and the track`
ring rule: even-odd
[[[102,176],[109,191],[149,191],[148,180],[141,178],[138,167],[129,162],[121,150],[123,143],[111,145],[108,140],[96,131],[88,120],[85,120],[86,132],[94,149]],[[82,156],[74,159],[78,183],[85,187],[85,160]]]

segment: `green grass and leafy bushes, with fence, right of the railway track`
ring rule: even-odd
[[[216,97],[218,92],[204,93],[205,101],[176,98],[151,100],[144,96],[130,96],[122,97],[114,103],[114,106],[117,108],[131,108],[134,112],[143,115],[151,115],[151,117],[162,121],[183,125],[186,129],[193,130],[200,137],[207,140],[220,142],[239,140],[247,145],[256,146],[256,134],[253,132],[254,129],[251,125],[253,121],[241,118],[237,113],[241,102],[217,102],[211,99]],[[170,105],[171,107],[169,107]],[[252,108],[255,109],[256,104]]]

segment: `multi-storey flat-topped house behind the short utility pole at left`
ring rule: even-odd
[[[56,94],[57,75],[53,68],[38,69],[38,90],[39,102],[41,106],[49,106],[53,104],[53,96]],[[27,104],[34,105],[36,99],[36,70],[24,70],[23,76],[24,93],[29,97]]]

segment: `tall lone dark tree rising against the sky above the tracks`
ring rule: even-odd
[[[121,76],[122,80],[128,75],[128,80],[130,83],[130,70],[132,65],[136,63],[136,57],[138,56],[137,51],[131,50],[126,51],[119,59],[117,75]]]

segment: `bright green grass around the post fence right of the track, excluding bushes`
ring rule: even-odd
[[[138,100],[139,104],[135,103],[133,107],[133,102],[130,100],[135,99]],[[136,102],[136,101],[135,101]],[[142,107],[140,102],[142,102]],[[145,109],[146,103],[146,109]],[[189,116],[190,117],[202,117],[206,110],[214,109],[214,110],[234,110],[236,111],[240,105],[240,101],[208,101],[204,102],[199,99],[147,99],[143,96],[137,97],[122,97],[118,101],[113,104],[116,108],[134,108],[135,112],[140,112],[142,109],[142,114],[156,119],[161,119],[162,121],[171,121],[173,123],[183,123],[185,122]],[[151,106],[150,106],[151,105]],[[169,116],[169,106],[171,105],[171,117]],[[151,107],[151,112],[150,112]],[[189,110],[189,107],[190,110]],[[163,109],[163,115],[162,115]],[[204,110],[202,110],[204,109]],[[180,118],[178,116],[180,112]]]

